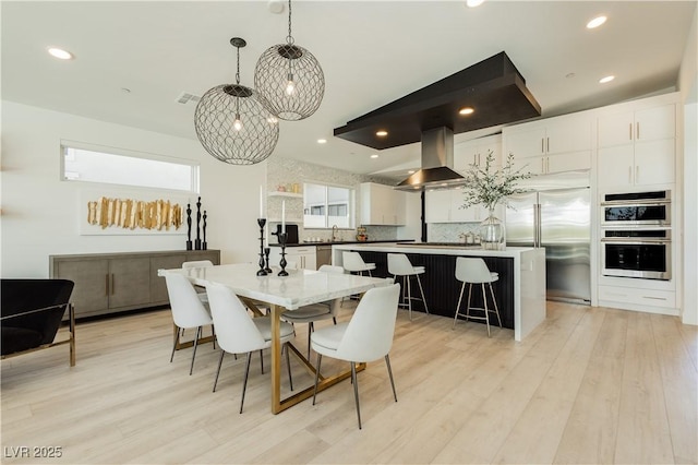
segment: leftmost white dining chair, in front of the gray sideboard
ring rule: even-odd
[[[165,275],[165,283],[167,285],[167,294],[170,298],[172,321],[177,329],[177,336],[174,337],[174,343],[172,345],[170,363],[174,359],[177,343],[179,342],[183,331],[185,329],[195,327],[196,336],[194,337],[194,350],[192,354],[192,363],[189,369],[189,374],[192,374],[194,371],[194,358],[196,357],[196,347],[198,346],[198,339],[201,338],[202,327],[209,324],[213,325],[213,319],[210,318],[210,313],[208,313],[206,305],[201,301],[196,295],[194,286],[186,277],[181,274],[168,273]]]

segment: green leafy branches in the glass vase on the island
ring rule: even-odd
[[[464,204],[461,208],[472,205],[484,205],[488,210],[493,210],[495,205],[503,204],[509,206],[508,198],[514,194],[527,192],[527,189],[518,188],[517,183],[522,179],[533,176],[530,171],[524,172],[526,166],[514,170],[514,154],[509,154],[506,164],[502,169],[493,170],[494,154],[492,151],[485,157],[484,168],[470,165],[471,168],[464,178]]]

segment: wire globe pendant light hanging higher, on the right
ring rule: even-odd
[[[291,0],[288,2],[286,44],[269,47],[257,60],[254,87],[268,110],[280,119],[298,121],[313,115],[325,95],[325,75],[317,59],[293,44]]]

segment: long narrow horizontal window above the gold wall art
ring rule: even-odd
[[[198,166],[185,160],[164,157],[144,157],[142,154],[124,155],[118,150],[111,153],[63,144],[62,178],[67,181],[101,182],[107,184],[137,186],[198,192]]]

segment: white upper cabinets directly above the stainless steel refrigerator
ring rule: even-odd
[[[591,128],[587,112],[504,128],[505,153],[534,175],[590,169]]]

